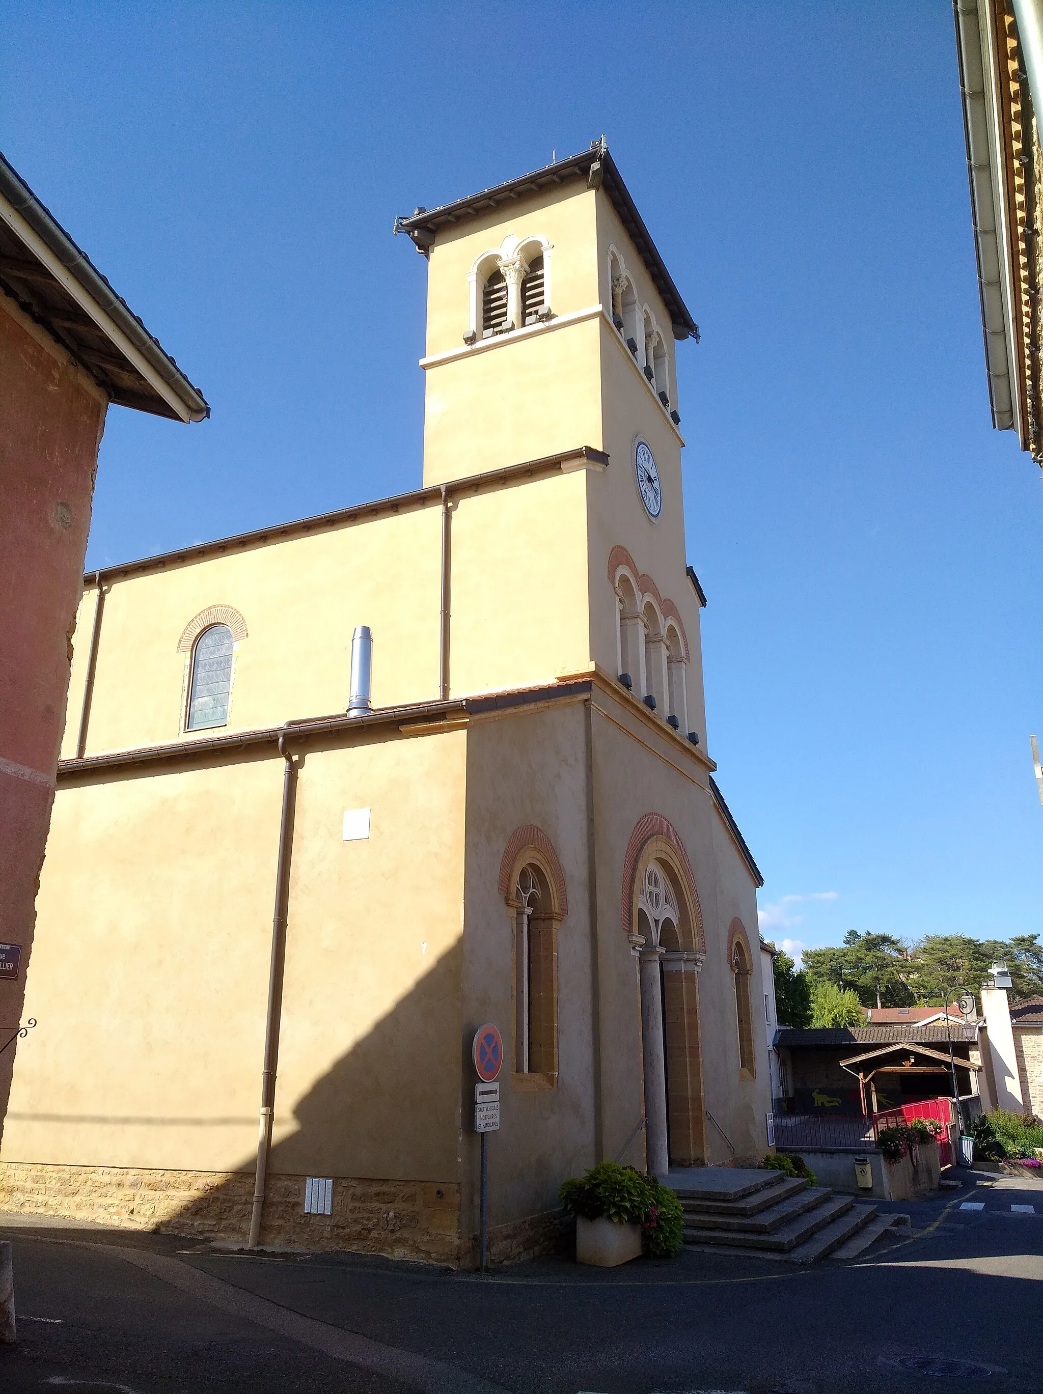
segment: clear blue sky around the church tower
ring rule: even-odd
[[[777,940],[1043,928],[1043,484],[990,428],[948,0],[24,4],[0,148],[199,383],[89,566],[414,488],[395,213],[602,131],[682,346],[708,749]]]

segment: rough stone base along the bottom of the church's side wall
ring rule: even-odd
[[[262,1245],[350,1249],[390,1259],[459,1264],[460,1188],[455,1182],[335,1177],[330,1214],[307,1216],[304,1181],[304,1177],[269,1174]],[[247,1171],[0,1163],[0,1210],[120,1228],[245,1243],[252,1197],[254,1174]],[[515,1238],[505,1242],[505,1252],[513,1252],[512,1246],[524,1249],[526,1242],[535,1243]]]

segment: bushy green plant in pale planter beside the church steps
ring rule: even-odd
[[[572,1177],[559,1192],[576,1217],[576,1260],[602,1269],[629,1263],[643,1252],[673,1257],[680,1249],[685,1216],[669,1186],[633,1167],[602,1161]]]

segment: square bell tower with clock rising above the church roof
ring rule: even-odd
[[[699,328],[604,138],[396,231],[428,259],[424,484],[591,447],[541,574],[581,566],[590,658],[680,739],[701,732],[675,357]],[[538,548],[551,514],[524,509],[501,526]]]

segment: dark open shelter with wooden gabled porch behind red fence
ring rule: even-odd
[[[961,1097],[979,1093],[984,1072],[979,1023],[782,1027],[775,1048],[791,1082],[784,1110],[793,1114],[880,1112],[952,1094],[948,1041]],[[984,1090],[982,1090],[984,1093]]]

